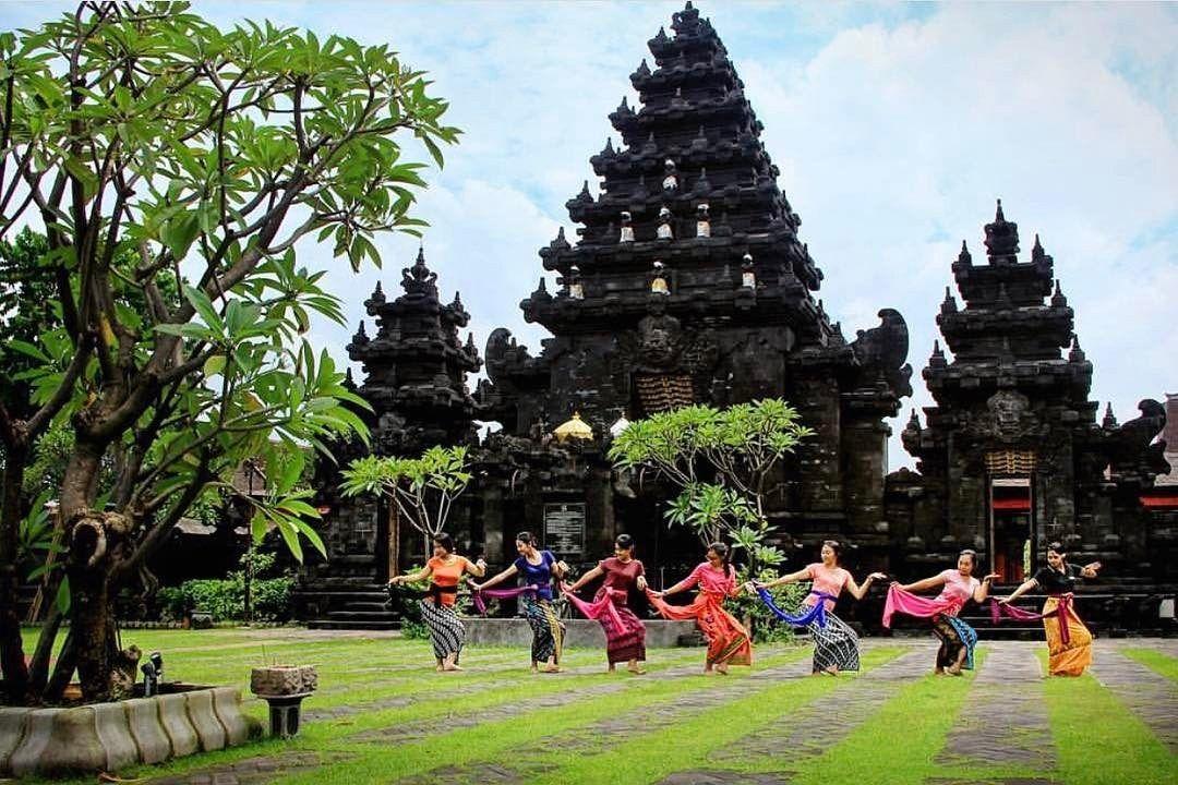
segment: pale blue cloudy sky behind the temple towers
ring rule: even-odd
[[[895,307],[912,334],[916,393],[893,423],[893,468],[911,465],[899,431],[931,403],[920,371],[961,240],[975,258],[994,199],[1055,259],[1096,366],[1092,398],[1121,420],[1141,398],[1178,392],[1178,6],[1149,4],[699,2],[728,47],[826,273],[826,310],[843,331]],[[52,6],[0,5],[0,27]],[[542,274],[536,251],[607,137],[646,41],[681,2],[197,2],[243,18],[388,42],[429,71],[465,131],[431,173],[419,215],[446,298],[472,313],[482,346],[496,326],[538,350],[518,302]],[[359,279],[330,250],[350,330],[319,325],[338,355],[377,278],[395,291],[416,241],[380,242],[384,271]],[[552,281],[549,281],[552,288]]]

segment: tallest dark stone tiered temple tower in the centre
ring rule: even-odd
[[[623,99],[610,114],[621,142],[608,139],[590,159],[598,194],[585,182],[567,202],[580,239],[562,228],[540,252],[558,291],[541,279],[521,305],[552,338],[532,357],[507,331],[491,335],[490,378],[476,395],[482,418],[501,421],[504,438],[527,439],[580,412],[600,437],[578,448],[596,479],[557,477],[530,493],[582,497],[590,539],[604,547],[615,528],[641,544],[664,527],[659,510],[633,505],[609,481],[600,447],[611,425],[693,403],[781,395],[816,431],[773,500],[781,531],[854,534],[884,547],[882,420],[911,394],[904,319],[881,311],[881,325],[852,342],[832,324],[816,298],[822,272],[727,49],[691,4],[671,32],[649,41],[653,66],[643,60],[630,74],[638,105]],[[510,465],[518,479],[521,460],[507,455],[519,448],[504,445],[488,471]],[[590,499],[587,487],[596,488]],[[528,505],[507,525],[544,531],[543,508]],[[487,532],[489,546],[509,533]]]

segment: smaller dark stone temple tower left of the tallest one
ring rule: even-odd
[[[419,251],[412,267],[402,271],[404,294],[389,301],[377,282],[364,302],[376,318],[376,334],[360,321],[348,346],[363,364],[358,392],[373,412],[360,412],[373,433],[372,450],[383,455],[416,455],[437,444],[472,444],[475,401],[466,374],[482,367],[474,337],[463,342],[458,331],[470,314],[455,293],[443,305],[437,274]],[[349,377],[350,379],[350,377]],[[340,464],[363,454],[359,444],[338,445]],[[384,606],[384,581],[398,565],[417,559],[422,543],[408,526],[398,526],[390,505],[371,498],[343,499],[338,467],[320,463],[316,504],[329,524],[326,564],[307,567],[299,586],[300,616],[315,626],[390,627],[395,617]]]

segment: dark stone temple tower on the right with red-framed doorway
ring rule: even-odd
[[[1118,426],[1110,411],[1098,425],[1092,362],[1053,259],[1035,235],[1030,260],[1019,260],[1018,225],[1001,201],[985,246],[984,262],[965,242],[953,262],[962,304],[946,287],[937,317],[952,359],[937,341],[924,371],[935,406],[925,408],[924,426],[913,411],[902,433],[920,474],[888,478],[898,566],[973,547],[1005,583],[1018,583],[1040,565],[1043,545],[1059,539],[1073,560],[1149,574],[1139,497],[1167,468],[1162,447],[1150,446],[1164,407],[1144,400],[1140,418]]]

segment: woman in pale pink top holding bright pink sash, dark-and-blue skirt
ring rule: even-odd
[[[990,596],[990,585],[998,573],[990,573],[979,581],[973,577],[978,566],[978,552],[966,548],[958,557],[957,570],[944,570],[932,578],[925,578],[913,584],[893,583],[884,605],[884,626],[892,626],[892,614],[896,611],[908,616],[925,617],[933,620],[933,634],[941,641],[937,651],[935,672],[961,676],[961,668],[973,670],[973,648],[978,644],[978,633],[968,624],[958,618],[958,613],[971,599],[985,601]],[[911,592],[924,592],[941,588],[935,599],[916,597]]]

